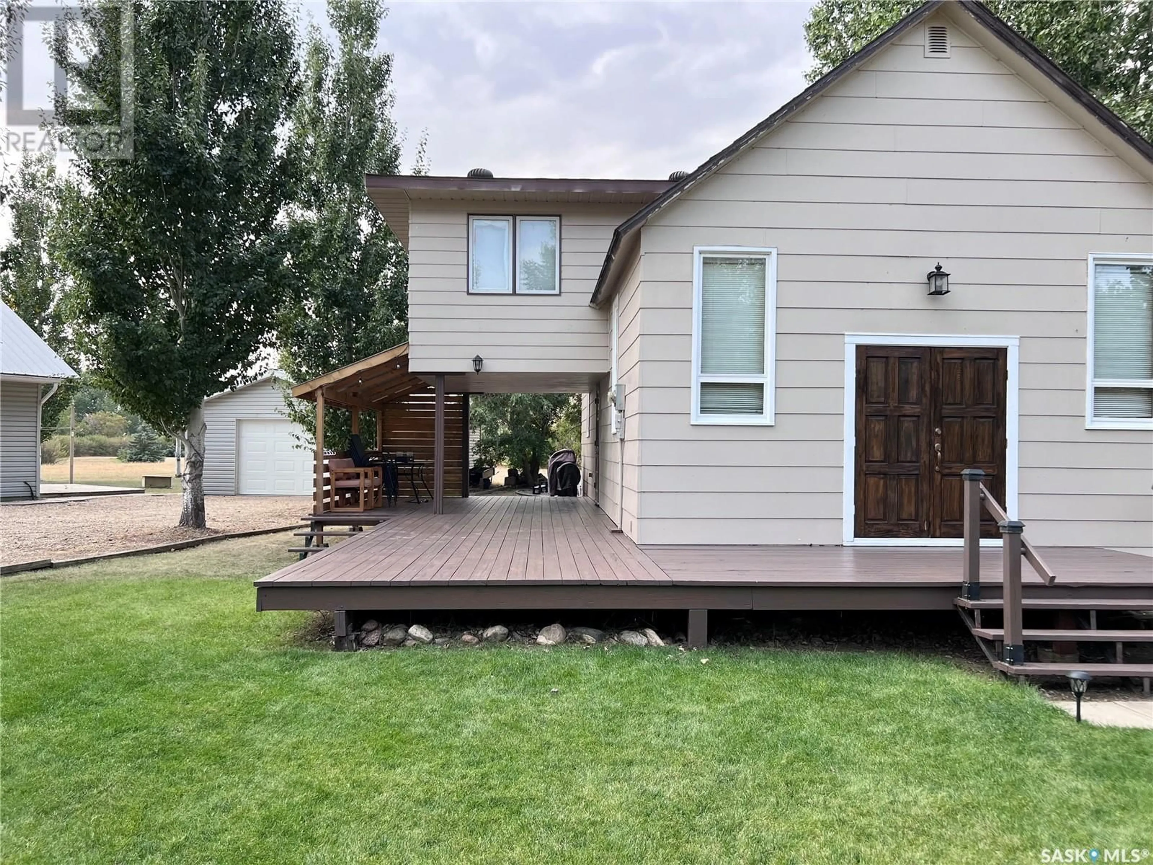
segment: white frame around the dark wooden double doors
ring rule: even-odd
[[[857,480],[857,346],[927,346],[930,348],[1004,348],[1009,381],[1005,384],[1005,501],[1009,519],[1017,519],[1018,436],[1020,379],[1018,355],[1020,337],[970,336],[956,333],[846,333],[845,334],[845,454],[842,533],[852,547],[960,547],[960,537],[853,537],[856,524],[854,488]],[[982,547],[1000,547],[997,539],[985,539]]]

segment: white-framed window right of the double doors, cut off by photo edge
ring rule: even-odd
[[[1085,421],[1153,429],[1153,255],[1088,257]]]

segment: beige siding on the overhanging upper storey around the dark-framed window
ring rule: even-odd
[[[487,374],[608,371],[608,313],[588,306],[613,228],[634,208],[603,204],[413,202],[408,253],[409,369]],[[560,217],[560,294],[468,294],[468,215]]]

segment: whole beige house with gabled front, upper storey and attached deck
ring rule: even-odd
[[[1153,145],[982,5],[925,3],[668,180],[367,188],[407,374],[581,393],[588,498],[437,496],[262,609],[675,608],[700,642],[708,608],[1003,602],[1015,670],[1018,549],[1079,609],[1153,609]]]

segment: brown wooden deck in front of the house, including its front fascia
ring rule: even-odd
[[[258,609],[950,609],[959,548],[638,547],[586,498],[489,495],[389,519],[257,580]],[[1049,548],[1050,597],[1148,596],[1151,559]],[[986,596],[1001,550],[982,550]]]

